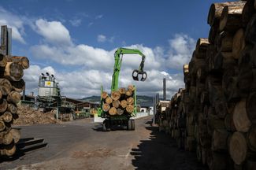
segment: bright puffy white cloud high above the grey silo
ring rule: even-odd
[[[71,45],[69,30],[59,21],[39,19],[35,21],[35,31],[42,35],[46,42],[54,45]]]

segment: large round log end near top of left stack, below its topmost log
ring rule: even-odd
[[[21,65],[15,62],[7,62],[4,76],[12,81],[20,81],[24,72]]]

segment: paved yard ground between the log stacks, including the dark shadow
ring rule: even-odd
[[[4,161],[0,169],[206,169],[150,119],[135,120],[135,131],[103,132],[91,119],[21,127],[22,138],[44,138],[48,146]]]

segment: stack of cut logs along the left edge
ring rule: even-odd
[[[28,67],[27,57],[0,54],[0,157],[12,156],[20,140],[20,131],[11,126],[18,117],[17,103],[25,88],[23,70]]]

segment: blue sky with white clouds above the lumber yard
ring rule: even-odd
[[[149,79],[135,83],[139,94],[161,94],[163,77],[168,77],[169,96],[184,87],[182,65],[190,60],[196,40],[208,36],[211,3],[224,1],[0,2],[0,24],[14,29],[13,55],[31,61],[24,76],[27,91],[36,93],[39,73],[48,71],[60,81],[62,94],[83,98],[97,95],[101,83],[109,90],[113,52],[120,46],[148,55]],[[139,57],[125,60],[120,82],[124,87],[134,83],[131,74]]]

